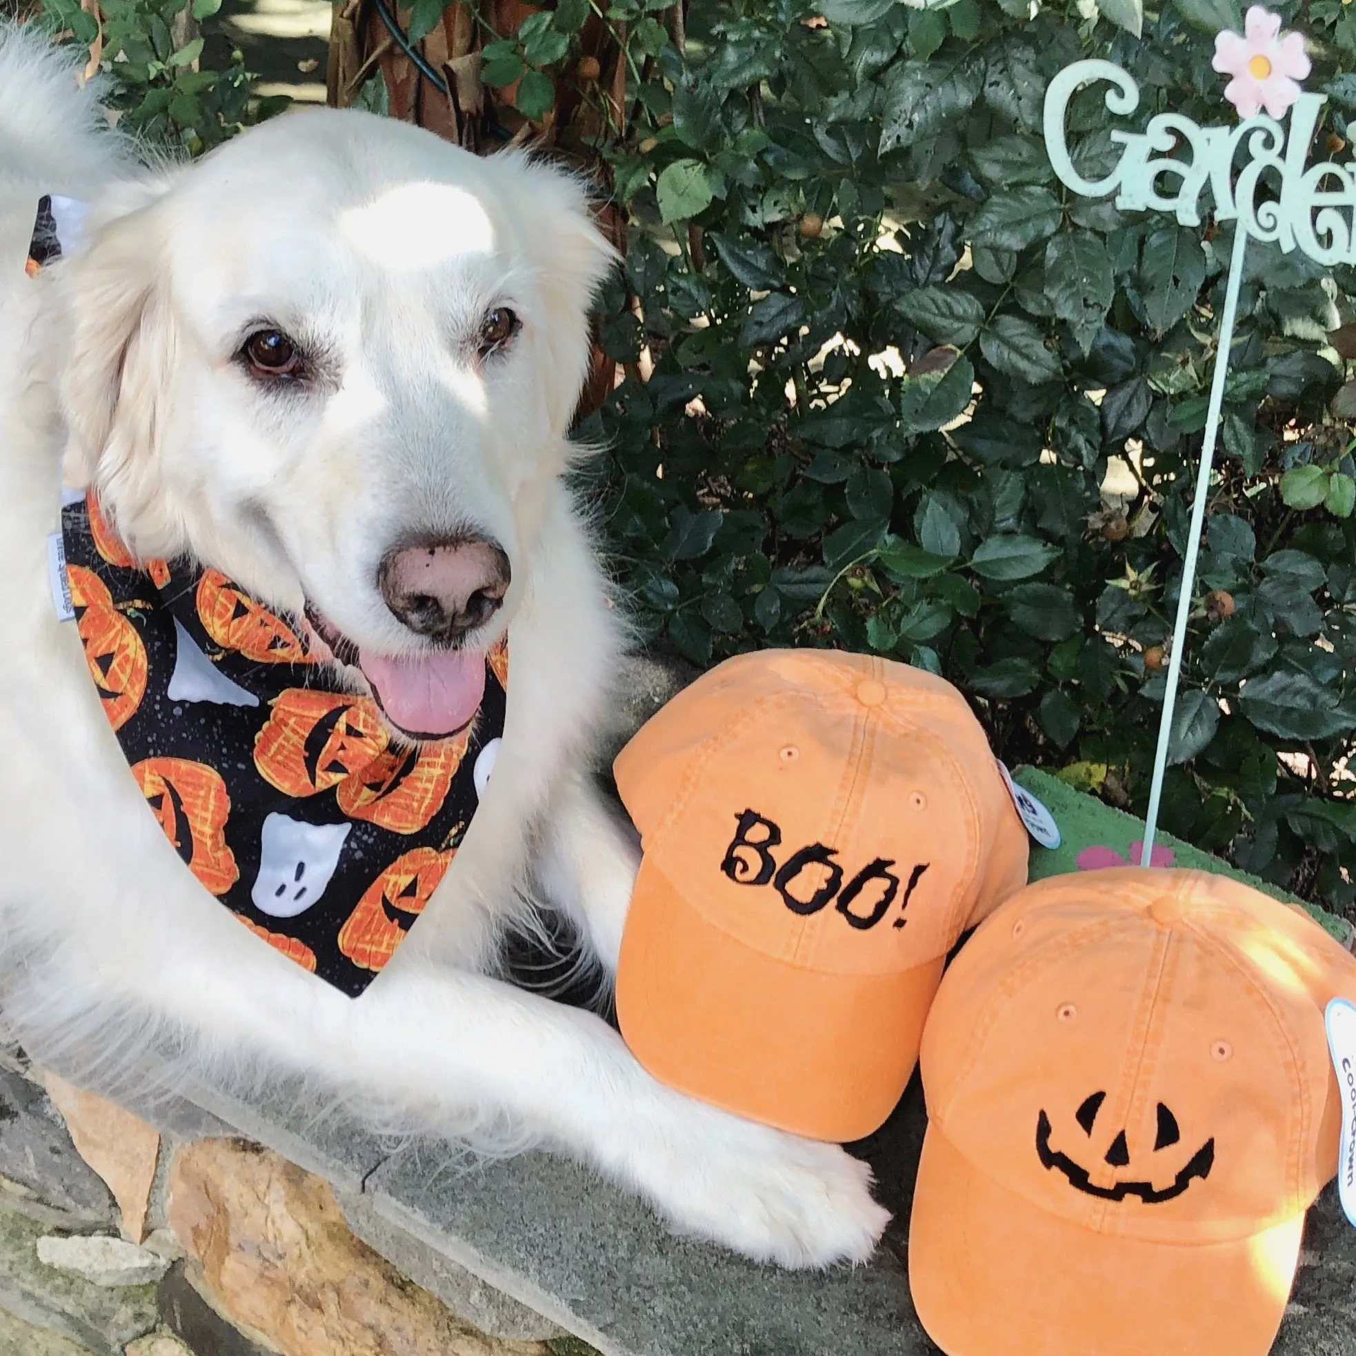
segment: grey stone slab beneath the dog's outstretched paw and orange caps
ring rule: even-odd
[[[369,1181],[373,1208],[605,1356],[937,1356],[909,1298],[907,1220],[925,1128],[917,1078],[853,1146],[895,1212],[864,1267],[795,1273],[677,1239],[639,1201],[559,1158],[465,1169],[412,1146]],[[1222,1300],[1224,1298],[1222,1296]],[[1310,1212],[1272,1356],[1356,1353],[1356,1230],[1329,1188]]]

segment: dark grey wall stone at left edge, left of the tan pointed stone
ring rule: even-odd
[[[49,1227],[117,1223],[113,1195],[76,1153],[46,1093],[8,1069],[0,1069],[0,1177],[19,1188],[0,1184],[0,1203]]]

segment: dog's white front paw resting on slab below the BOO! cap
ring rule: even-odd
[[[633,1165],[674,1229],[781,1267],[871,1256],[890,1211],[872,1199],[865,1163],[837,1144],[702,1112],[692,1117],[705,1123],[698,1134],[666,1136],[664,1151]]]

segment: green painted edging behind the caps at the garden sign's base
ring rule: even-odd
[[[1032,843],[1031,849],[1031,879],[1044,880],[1047,876],[1062,876],[1078,871],[1078,854],[1085,848],[1102,846],[1120,853],[1127,864],[1134,864],[1136,858],[1131,856],[1130,845],[1144,837],[1144,822],[1134,815],[1127,815],[1121,810],[1113,810],[1102,804],[1096,796],[1074,791],[1066,786],[1058,777],[1037,767],[1018,767],[1014,777],[1033,796],[1041,800],[1059,824],[1062,842],[1058,848],[1040,848]],[[1344,946],[1352,944],[1356,929],[1345,918],[1328,913],[1317,904],[1304,903],[1295,895],[1288,894],[1279,885],[1249,876],[1245,871],[1238,871],[1227,862],[1212,857],[1210,853],[1192,848],[1191,843],[1174,838],[1172,834],[1159,833],[1157,848],[1169,848],[1176,854],[1177,866],[1191,871],[1210,871],[1216,876],[1230,876],[1253,890],[1260,890],[1273,899],[1287,904],[1299,904],[1306,913],[1322,923]]]

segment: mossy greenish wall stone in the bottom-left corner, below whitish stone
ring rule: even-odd
[[[0,1211],[0,1309],[100,1356],[121,1356],[127,1342],[156,1326],[153,1285],[106,1290],[43,1267],[42,1234],[35,1220]]]

